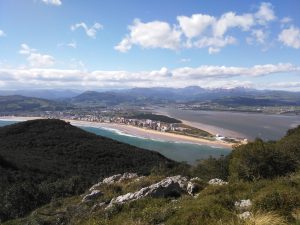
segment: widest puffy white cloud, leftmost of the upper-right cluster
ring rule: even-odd
[[[115,49],[126,52],[133,45],[142,48],[177,49],[180,45],[181,32],[172,28],[168,23],[152,21],[143,23],[135,19],[129,26],[130,33],[117,45]]]

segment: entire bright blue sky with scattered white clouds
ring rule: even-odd
[[[0,89],[300,91],[299,10],[299,0],[0,0]]]

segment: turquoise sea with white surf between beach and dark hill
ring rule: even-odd
[[[12,121],[1,121],[0,126],[13,124]],[[176,160],[185,161],[189,164],[195,164],[199,159],[205,159],[209,156],[220,157],[221,155],[227,155],[230,153],[230,149],[214,148],[206,145],[197,145],[189,143],[177,143],[157,141],[145,138],[134,137],[126,135],[114,130],[94,128],[94,127],[81,127],[82,129],[95,133],[100,136],[108,137],[120,142],[124,142],[133,146],[137,146],[143,149],[153,150],[161,153],[162,155]]]

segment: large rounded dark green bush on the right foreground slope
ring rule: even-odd
[[[229,173],[231,179],[248,181],[274,178],[294,172],[298,159],[273,142],[255,140],[236,147],[231,154]]]

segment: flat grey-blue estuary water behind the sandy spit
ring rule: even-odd
[[[161,108],[160,113],[181,120],[215,126],[240,134],[250,140],[259,137],[264,140],[277,140],[288,129],[300,125],[300,115],[274,115],[246,112],[195,111],[174,108]]]

